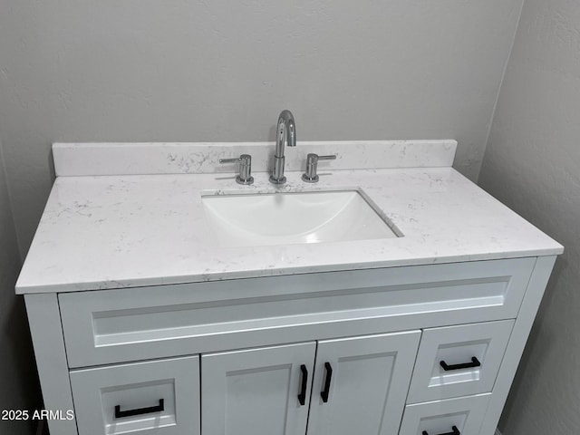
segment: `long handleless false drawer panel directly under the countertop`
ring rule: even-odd
[[[515,318],[535,258],[59,295],[70,367]]]

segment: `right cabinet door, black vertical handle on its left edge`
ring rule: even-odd
[[[319,342],[308,434],[397,433],[419,339],[411,331]]]

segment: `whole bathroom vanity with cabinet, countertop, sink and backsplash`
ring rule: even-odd
[[[16,285],[51,433],[492,435],[563,247],[456,145],[299,142],[274,186],[272,144],[55,144]]]

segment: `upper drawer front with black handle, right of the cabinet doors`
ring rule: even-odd
[[[514,323],[505,320],[423,331],[407,402],[491,391]]]

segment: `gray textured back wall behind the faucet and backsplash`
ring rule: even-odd
[[[55,140],[456,139],[476,179],[523,0],[0,0],[23,252]]]

